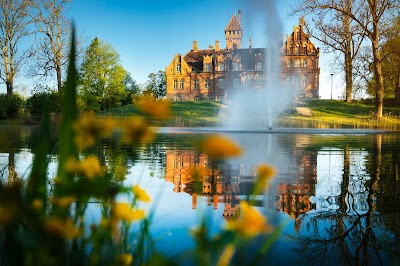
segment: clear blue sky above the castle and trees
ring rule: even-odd
[[[253,47],[265,47],[266,34],[262,25],[268,15],[263,10],[265,8],[256,7],[254,3],[266,1],[272,2],[73,0],[69,4],[67,16],[75,21],[78,31],[83,34],[85,45],[94,37],[108,42],[120,54],[122,65],[133,79],[144,83],[149,73],[165,70],[175,54],[188,52],[192,48],[193,40],[198,41],[199,49],[214,45],[217,39],[221,41],[221,47],[224,47],[224,29],[238,9],[242,9],[243,14],[243,47],[248,47],[249,37],[252,38]],[[298,18],[287,17],[289,3],[294,1],[275,2],[283,26],[282,34],[286,36],[298,23]],[[322,62],[320,67],[320,94],[322,97],[330,96],[329,70],[325,71],[327,66]],[[3,90],[5,89],[2,88],[1,91]]]

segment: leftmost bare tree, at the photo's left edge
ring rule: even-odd
[[[14,78],[27,58],[20,50],[20,41],[30,35],[28,26],[29,2],[27,0],[0,0],[0,78],[6,84],[7,96],[12,97]]]

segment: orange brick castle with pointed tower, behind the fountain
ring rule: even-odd
[[[225,28],[226,48],[198,49],[193,41],[186,55],[177,54],[166,68],[167,99],[222,100],[232,91],[265,87],[266,48],[242,48],[242,13],[234,14]],[[298,97],[319,97],[319,49],[303,31],[303,20],[280,48],[280,82],[298,91]]]

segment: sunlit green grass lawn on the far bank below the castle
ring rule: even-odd
[[[382,121],[372,119],[374,105],[372,102],[346,103],[336,100],[306,100],[303,106],[312,110],[312,116],[300,116],[293,112],[281,117],[279,126],[308,128],[370,128],[400,130],[400,107],[384,107]],[[216,126],[220,102],[181,101],[171,102],[173,113],[168,121],[153,121],[158,126]],[[140,114],[133,105],[125,105],[104,111],[101,115],[128,116]]]

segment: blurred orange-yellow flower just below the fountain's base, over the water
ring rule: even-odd
[[[220,135],[212,135],[206,138],[201,143],[201,149],[209,156],[220,159],[239,156],[242,153],[236,143]]]

